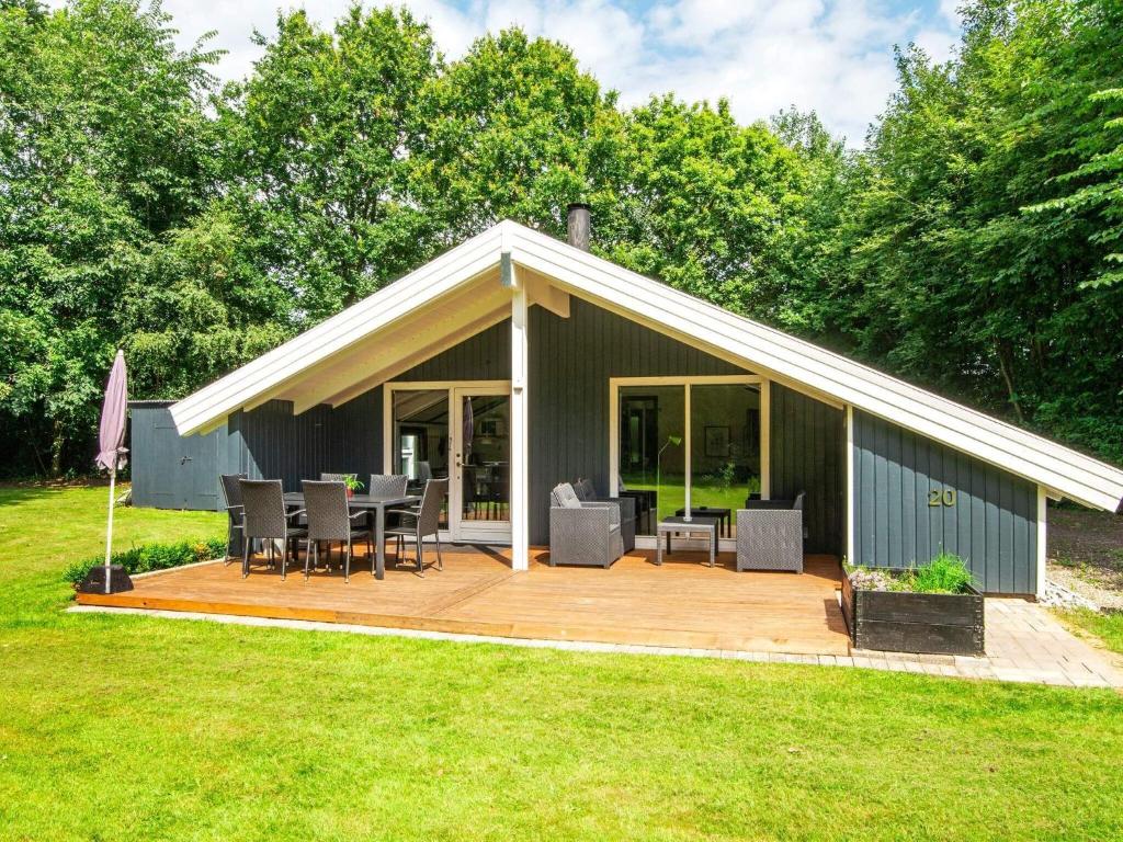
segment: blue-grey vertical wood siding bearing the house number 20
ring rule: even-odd
[[[946,550],[987,593],[1037,591],[1037,486],[859,410],[853,421],[857,564],[909,567]]]

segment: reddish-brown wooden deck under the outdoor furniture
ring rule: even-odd
[[[446,549],[442,571],[430,568],[421,578],[387,564],[382,582],[358,561],[350,584],[322,570],[307,583],[299,571],[282,582],[261,567],[243,580],[239,565],[210,564],[139,578],[124,594],[80,594],[79,602],[508,638],[849,652],[834,593],[839,564],[830,556],[809,556],[796,576],[737,573],[730,553],[712,569],[701,552],[656,567],[654,550],[637,550],[608,570],[549,567],[548,553],[535,550],[530,570],[514,573],[504,552]]]

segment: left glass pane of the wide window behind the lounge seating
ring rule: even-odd
[[[686,392],[683,386],[620,388],[620,493],[636,497],[637,533],[686,498]]]

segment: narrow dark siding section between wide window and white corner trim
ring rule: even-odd
[[[770,496],[806,494],[806,550],[841,555],[846,522],[846,420],[842,410],[786,388],[770,387]]]

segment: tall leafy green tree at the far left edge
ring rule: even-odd
[[[176,52],[167,21],[125,0],[0,9],[0,417],[54,474],[84,461],[124,290],[207,192],[213,56]]]

